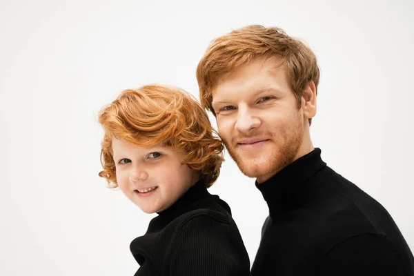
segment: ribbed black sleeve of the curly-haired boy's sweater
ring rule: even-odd
[[[228,213],[215,210],[186,215],[175,233],[174,250],[167,263],[172,275],[250,274],[250,261],[237,226]]]

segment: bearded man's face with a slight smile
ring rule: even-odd
[[[213,108],[230,156],[259,183],[297,159],[304,141],[304,113],[279,59],[248,63],[219,79]]]

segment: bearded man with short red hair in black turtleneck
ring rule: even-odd
[[[210,44],[197,80],[230,156],[268,204],[251,275],[414,275],[385,208],[313,147],[319,68],[304,43],[246,26]]]

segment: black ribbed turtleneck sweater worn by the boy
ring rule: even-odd
[[[150,221],[130,244],[137,275],[249,275],[248,254],[230,207],[203,181]]]

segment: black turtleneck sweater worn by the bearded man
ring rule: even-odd
[[[414,275],[391,215],[316,148],[262,184],[269,207],[251,275]]]

